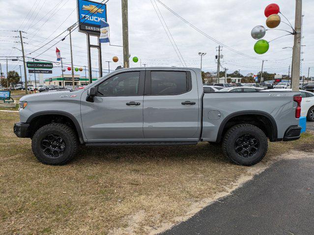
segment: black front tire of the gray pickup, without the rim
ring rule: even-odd
[[[51,157],[44,153],[42,141],[49,135],[57,135],[65,143],[61,156]],[[75,131],[61,123],[51,123],[39,128],[32,137],[31,148],[39,162],[48,165],[63,165],[68,163],[78,152],[79,141]]]

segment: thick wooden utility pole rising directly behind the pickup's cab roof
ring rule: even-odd
[[[129,25],[128,25],[128,0],[121,0],[122,8],[122,39],[123,39],[123,66],[130,67],[129,61]]]

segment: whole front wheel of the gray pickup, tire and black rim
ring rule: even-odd
[[[75,156],[79,141],[71,127],[61,123],[51,123],[35,132],[31,148],[41,163],[63,165]]]

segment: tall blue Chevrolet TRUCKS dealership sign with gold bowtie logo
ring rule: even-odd
[[[107,22],[106,4],[89,0],[78,0],[77,3],[80,23],[79,31],[99,36],[100,22]]]

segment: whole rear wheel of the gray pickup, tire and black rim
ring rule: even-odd
[[[222,149],[225,156],[240,165],[254,165],[265,156],[267,137],[258,127],[238,124],[231,127],[224,136]]]

